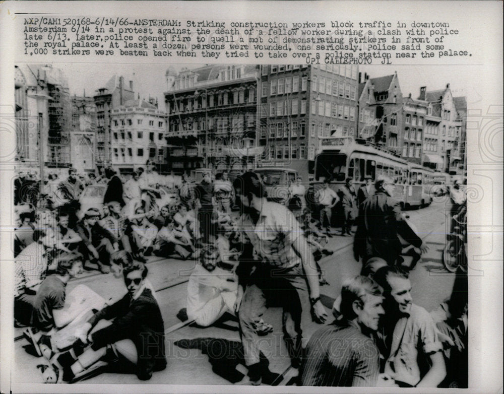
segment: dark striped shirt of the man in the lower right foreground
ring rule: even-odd
[[[303,386],[374,386],[380,372],[379,351],[373,340],[349,321],[316,331],[306,345]]]

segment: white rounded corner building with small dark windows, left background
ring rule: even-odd
[[[166,172],[166,113],[151,99],[129,100],[110,112],[111,163],[121,174],[145,169],[148,159]]]

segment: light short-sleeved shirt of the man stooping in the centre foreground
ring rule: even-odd
[[[249,215],[242,215],[240,221],[238,228],[248,237],[264,264],[292,268],[301,262],[292,244],[303,234],[303,230],[294,214],[285,206],[265,202],[256,225]]]

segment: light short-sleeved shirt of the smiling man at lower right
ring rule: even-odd
[[[430,356],[443,350],[434,320],[424,308],[412,304],[409,315],[397,321],[390,350],[385,373],[395,380],[416,385],[426,372],[420,370],[418,354]]]

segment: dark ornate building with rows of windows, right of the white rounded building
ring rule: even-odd
[[[168,168],[242,171],[259,150],[256,65],[207,65],[166,73]]]

